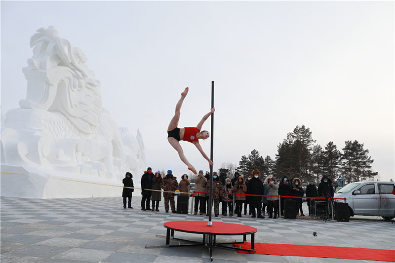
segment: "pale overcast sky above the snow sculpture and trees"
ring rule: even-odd
[[[215,170],[253,149],[275,159],[305,125],[322,147],[363,143],[373,170],[394,178],[394,1],[1,1],[2,115],[26,97],[30,37],[50,25],[88,57],[118,126],[140,129],[153,170],[189,172],[167,125],[186,86],[179,127],[197,125],[215,80]],[[209,155],[210,141],[200,144]]]

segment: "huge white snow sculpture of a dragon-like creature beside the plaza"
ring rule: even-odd
[[[102,107],[86,56],[55,27],[40,28],[30,46],[33,57],[22,70],[26,99],[1,127],[1,172],[12,173],[1,174],[1,195],[120,196],[121,188],[67,180],[121,185],[129,171],[139,182],[146,168],[140,132],[118,128]]]

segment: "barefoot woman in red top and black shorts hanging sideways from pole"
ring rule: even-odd
[[[204,121],[215,111],[215,108],[212,108],[211,111],[203,116],[200,122],[197,124],[196,127],[184,127],[178,128],[178,121],[180,119],[181,114],[181,106],[188,94],[188,87],[185,88],[184,92],[181,93],[181,98],[177,102],[176,105],[176,112],[173,118],[170,121],[169,126],[167,127],[167,140],[169,141],[170,145],[178,152],[180,159],[188,166],[188,170],[191,170],[194,174],[197,174],[195,167],[187,160],[184,155],[184,151],[179,143],[179,141],[187,141],[193,143],[197,150],[200,151],[201,155],[203,155],[204,159],[208,161],[209,165],[213,165],[213,162],[208,158],[208,156],[204,153],[203,149],[199,144],[198,139],[207,139],[210,135],[208,131],[200,131],[201,126],[203,125]]]

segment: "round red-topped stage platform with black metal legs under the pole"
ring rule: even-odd
[[[233,223],[223,223],[223,222],[212,222],[213,225],[208,226],[207,221],[170,221],[163,224],[164,227],[167,228],[166,233],[166,247],[176,247],[176,246],[193,246],[193,245],[206,245],[205,244],[205,237],[206,235],[209,236],[208,247],[210,249],[210,258],[211,261],[213,260],[212,257],[212,248],[221,247],[226,249],[236,249],[234,246],[228,247],[224,246],[225,244],[239,244],[246,242],[246,236],[251,235],[251,249],[241,249],[245,251],[255,251],[254,244],[255,244],[255,236],[257,229],[255,227],[249,225],[240,225],[240,224],[233,224]],[[195,234],[202,234],[203,235],[203,242],[197,242],[192,240],[185,240],[180,238],[174,237],[174,231],[180,232],[187,232],[187,233],[195,233]],[[242,235],[243,241],[240,242],[229,242],[229,243],[216,243],[215,239],[217,235]],[[195,244],[187,244],[187,245],[170,245],[170,236],[173,239],[183,240],[192,242]],[[237,248],[240,250],[240,248]]]

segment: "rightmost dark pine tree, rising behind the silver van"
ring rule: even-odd
[[[369,150],[363,149],[358,141],[346,141],[342,149],[342,170],[349,183],[373,179],[378,175],[371,170],[373,159],[368,156]]]

